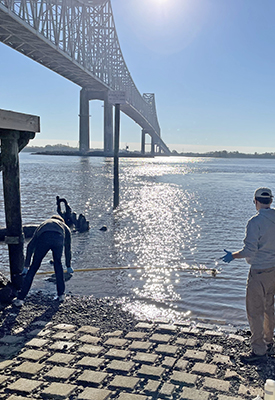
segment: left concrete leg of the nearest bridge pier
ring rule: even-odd
[[[79,151],[87,152],[90,149],[89,92],[84,88],[80,91],[79,117]]]

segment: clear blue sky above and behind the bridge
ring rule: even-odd
[[[274,0],[112,0],[124,59],[141,93],[155,93],[171,150],[275,151]],[[0,44],[0,108],[39,115],[30,144],[78,141],[80,88]],[[103,108],[90,102],[91,141]],[[148,138],[149,141],[149,138]],[[123,116],[121,147],[140,148]]]

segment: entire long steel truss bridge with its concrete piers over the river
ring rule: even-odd
[[[104,151],[113,151],[109,91],[124,91],[121,111],[151,137],[151,152],[170,154],[161,139],[155,96],[141,95],[119,45],[111,0],[0,0],[0,41],[81,87],[80,151],[89,150],[89,100],[104,101]]]

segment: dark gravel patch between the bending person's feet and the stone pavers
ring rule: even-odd
[[[120,329],[130,331],[137,320],[128,312],[122,310],[116,300],[95,299],[66,295],[63,303],[53,300],[53,296],[42,292],[27,297],[21,308],[8,306],[0,312],[0,336],[13,334],[17,329],[28,326],[36,320],[66,323],[76,326],[92,325],[103,332]],[[31,329],[31,328],[30,328]]]

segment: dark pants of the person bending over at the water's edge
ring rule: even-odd
[[[64,237],[58,232],[44,232],[38,237],[29,271],[24,279],[23,287],[18,294],[18,299],[23,300],[32,285],[33,278],[38,271],[41,262],[49,250],[52,250],[54,272],[56,277],[57,294],[61,296],[65,292],[65,283],[61,257],[63,253]]]

